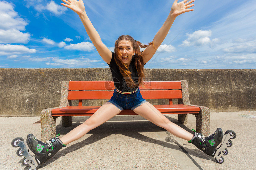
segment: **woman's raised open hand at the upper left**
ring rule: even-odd
[[[82,0],[62,0],[64,3],[61,3],[61,5],[72,9],[74,12],[76,12],[79,16],[85,12],[85,5]]]

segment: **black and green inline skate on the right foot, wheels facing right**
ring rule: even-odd
[[[228,154],[226,147],[232,146],[232,141],[230,139],[235,139],[236,133],[232,130],[228,130],[223,134],[222,129],[217,128],[213,134],[205,137],[201,133],[194,132],[194,137],[189,143],[194,144],[207,155],[213,156],[218,163],[223,163],[224,158],[222,155]]]

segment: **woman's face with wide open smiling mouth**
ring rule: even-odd
[[[135,54],[135,51],[132,48],[132,42],[127,40],[120,40],[117,48],[121,54],[121,56],[118,54],[119,59],[124,64],[130,65],[132,61],[132,55]]]

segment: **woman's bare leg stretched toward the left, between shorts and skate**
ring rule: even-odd
[[[65,136],[60,138],[60,140],[63,142],[63,144],[68,145],[70,142],[79,139],[80,137],[87,134],[88,131],[98,127],[120,112],[121,110],[118,109],[115,105],[110,102],[106,102],[83,124],[68,132]]]

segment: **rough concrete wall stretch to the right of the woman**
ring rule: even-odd
[[[255,111],[255,69],[148,69],[152,81],[187,80],[190,103],[212,112]]]

